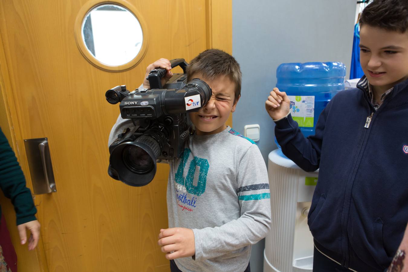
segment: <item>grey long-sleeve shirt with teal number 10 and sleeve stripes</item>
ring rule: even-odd
[[[118,118],[109,144],[128,126]],[[195,259],[175,259],[182,271],[244,271],[251,245],[268,233],[271,202],[268,174],[257,145],[227,127],[193,135],[183,157],[169,160],[169,228],[191,228]]]

